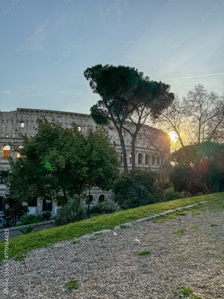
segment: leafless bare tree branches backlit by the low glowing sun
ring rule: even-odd
[[[224,96],[208,92],[202,84],[195,85],[182,100],[176,95],[156,125],[168,134],[174,133],[175,147],[224,139]]]

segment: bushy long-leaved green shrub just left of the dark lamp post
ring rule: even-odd
[[[81,221],[87,216],[87,208],[80,204],[80,198],[69,199],[68,203],[57,209],[55,226]]]

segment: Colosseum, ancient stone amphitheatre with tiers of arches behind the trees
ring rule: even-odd
[[[95,128],[96,123],[90,115],[72,112],[62,112],[53,110],[38,110],[38,109],[22,109],[17,108],[16,111],[0,112],[0,144],[1,144],[1,157],[0,157],[0,170],[8,170],[8,156],[13,159],[19,158],[19,153],[13,151],[11,144],[22,146],[22,139],[19,134],[27,134],[34,136],[37,127],[37,119],[44,116],[48,121],[52,118],[58,120],[66,128],[71,127],[72,123],[76,123],[81,132],[86,132],[88,128]],[[130,125],[131,126],[131,125]],[[113,125],[105,127],[111,136],[111,143],[116,144],[116,151],[121,154],[119,136]],[[144,131],[144,132],[143,132]],[[125,139],[125,146],[128,157],[128,168],[131,169],[131,136],[124,131],[123,136]],[[148,136],[148,138],[147,138]],[[156,146],[152,140],[156,140]],[[150,139],[150,141],[149,141]],[[151,126],[144,125],[142,132],[139,132],[136,140],[136,167],[149,167],[151,170],[156,171],[158,180],[162,180],[162,164],[164,163],[167,154],[170,152],[170,137],[165,132],[155,129]],[[129,158],[130,157],[130,158]],[[3,198],[8,190],[4,184],[4,179],[0,182],[0,211],[4,210]],[[101,200],[109,199],[113,196],[112,192],[103,192],[98,188],[92,188],[90,193],[90,201],[96,204]],[[55,202],[45,202],[37,200],[37,202],[29,203],[29,207],[36,207],[36,213],[40,214],[43,211],[51,210],[52,214],[56,213],[57,205]]]

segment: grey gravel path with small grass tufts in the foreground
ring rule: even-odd
[[[224,210],[209,214],[208,209],[165,223],[132,224],[116,236],[107,232],[79,244],[30,251],[24,260],[10,260],[10,295],[0,297],[170,299],[187,286],[202,299],[223,299]],[[180,228],[184,233],[175,234]],[[143,250],[151,255],[134,254]],[[0,275],[2,286],[2,266]],[[79,289],[68,292],[65,283],[73,279]]]

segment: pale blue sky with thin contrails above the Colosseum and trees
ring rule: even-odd
[[[179,96],[198,83],[223,94],[223,13],[224,0],[1,1],[0,110],[89,114],[99,96],[83,71],[96,64],[133,66]]]

